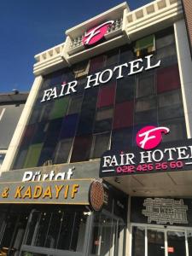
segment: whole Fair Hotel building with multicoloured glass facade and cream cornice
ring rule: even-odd
[[[3,161],[2,255],[192,255],[183,5],[127,3],[35,56]]]

